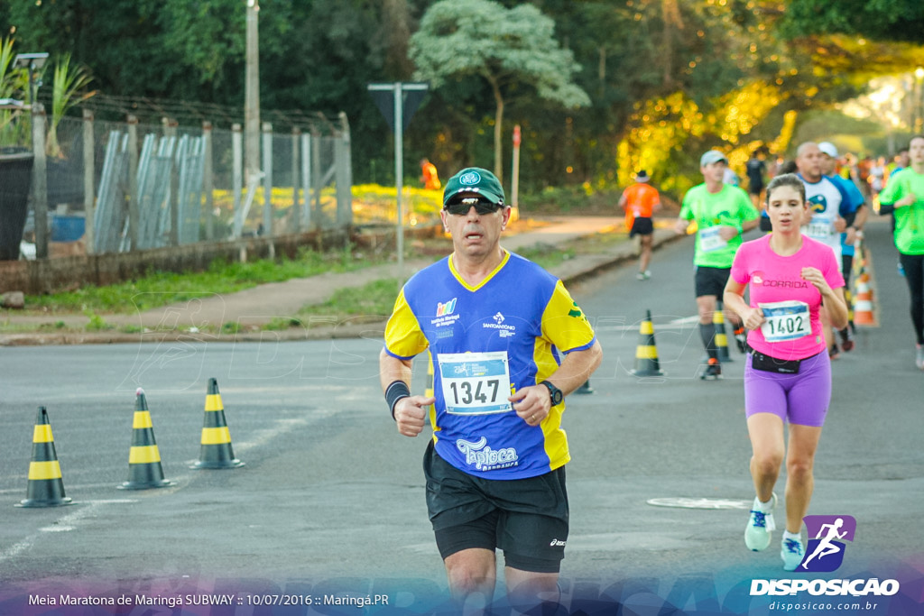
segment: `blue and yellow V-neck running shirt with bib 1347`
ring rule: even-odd
[[[590,348],[593,329],[561,283],[516,254],[477,287],[447,257],[415,274],[385,327],[385,352],[410,359],[430,349],[430,414],[436,452],[471,475],[535,477],[570,460],[565,403],[540,426],[517,416],[507,397],[547,379],[559,353]]]

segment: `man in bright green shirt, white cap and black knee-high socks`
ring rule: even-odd
[[[721,151],[707,151],[699,159],[699,171],[705,180],[690,188],[684,196],[676,233],[687,233],[690,221],[696,223],[696,303],[699,310],[699,336],[709,354],[709,363],[699,378],[722,378],[719,352],[715,346],[715,326],[712,313],[722,296],[735,253],[741,246],[741,235],[758,225],[760,213],[751,205],[748,193],[739,187],[723,184],[728,160]],[[727,311],[725,320],[734,326],[738,349],[745,351],[744,327],[738,316]]]

